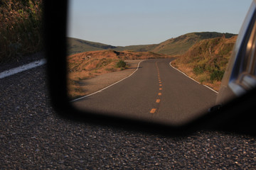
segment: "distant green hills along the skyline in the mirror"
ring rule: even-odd
[[[95,50],[130,50],[134,52],[155,52],[165,55],[182,55],[196,42],[223,36],[225,36],[225,38],[231,38],[234,36],[234,34],[216,32],[187,33],[177,38],[171,38],[159,44],[129,45],[125,47],[106,45],[100,42],[90,42],[77,38],[68,38],[68,55]]]

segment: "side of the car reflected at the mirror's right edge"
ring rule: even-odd
[[[245,94],[256,86],[256,1],[252,1],[228,67],[223,76],[216,100],[223,104]]]

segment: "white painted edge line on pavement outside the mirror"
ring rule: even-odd
[[[3,79],[4,77],[9,77],[9,76],[17,74],[19,72],[24,72],[28,69],[33,69],[33,68],[41,66],[43,64],[46,64],[46,59],[41,59],[41,60],[38,60],[35,62],[24,64],[22,66],[14,68],[14,69],[6,70],[6,71],[0,73],[0,79]]]

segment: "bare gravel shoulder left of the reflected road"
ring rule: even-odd
[[[100,76],[93,77],[92,79],[82,80],[80,81],[80,85],[86,89],[85,95],[95,93],[96,91],[104,89],[125,77],[129,77],[129,75],[137,69],[139,62],[142,61],[144,60],[125,60],[129,66],[128,69],[102,74]]]

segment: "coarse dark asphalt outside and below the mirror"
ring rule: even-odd
[[[163,137],[64,120],[50,106],[45,66],[0,87],[0,169],[256,169],[255,137]]]

